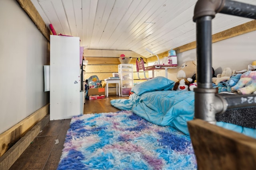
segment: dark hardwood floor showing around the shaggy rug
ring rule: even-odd
[[[104,99],[86,100],[84,114],[119,111],[110,104],[110,100],[117,98],[128,97],[109,96]],[[56,170],[70,120],[50,121],[10,170]]]

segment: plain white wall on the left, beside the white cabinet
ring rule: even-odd
[[[16,0],[0,0],[0,133],[49,102],[48,42]]]

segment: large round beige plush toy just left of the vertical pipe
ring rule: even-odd
[[[188,79],[192,78],[196,74],[196,61],[186,61],[181,64],[177,72],[177,79]]]

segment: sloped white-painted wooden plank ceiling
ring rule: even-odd
[[[80,37],[85,49],[129,50],[152,57],[196,40],[197,0],[31,0],[57,34]],[[239,0],[256,5],[256,0]],[[251,21],[216,14],[212,34]]]

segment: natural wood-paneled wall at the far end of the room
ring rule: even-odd
[[[130,64],[133,66],[134,83],[143,82],[140,80],[136,71],[136,59],[142,57],[133,51],[123,50],[99,50],[99,49],[85,49],[84,57],[88,60],[88,65],[85,67],[84,80],[90,76],[96,75],[100,80],[112,77],[113,72],[118,72],[118,64],[121,64],[119,57],[124,54],[126,57],[132,57]],[[146,61],[146,59],[144,59]],[[145,64],[146,65],[146,64]],[[147,66],[147,65],[146,65]],[[148,72],[146,73],[148,75]],[[140,72],[140,77],[143,77],[143,72]],[[109,95],[116,94],[115,84],[109,84]]]

